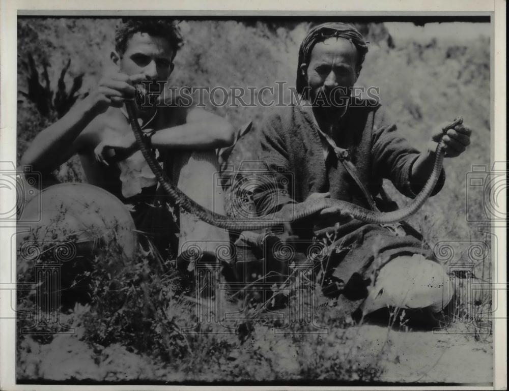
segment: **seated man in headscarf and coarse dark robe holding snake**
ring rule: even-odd
[[[427,151],[419,153],[398,135],[378,102],[351,96],[367,50],[363,36],[350,24],[323,23],[309,30],[297,69],[303,102],[277,108],[261,130],[260,159],[277,184],[288,185],[258,192],[254,197],[260,213],[314,197],[383,209],[372,198],[382,190],[383,178],[407,197],[422,189],[433,169],[441,128],[431,135]],[[463,125],[449,130],[443,138],[445,156],[464,152],[470,133]],[[432,195],[444,179],[442,171]],[[357,313],[363,314],[386,307],[430,314],[449,303],[445,269],[409,226],[367,224],[328,208],[297,222],[293,231],[312,238],[335,222],[341,224],[336,225],[321,281],[325,293],[343,293],[352,309],[361,303]]]

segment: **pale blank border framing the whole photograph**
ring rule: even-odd
[[[255,4],[238,4],[235,1],[186,1],[186,2],[137,2],[133,0],[119,1],[98,1],[89,0],[87,7],[89,10],[80,10],[83,3],[69,1],[13,1],[0,0],[0,161],[16,162],[16,18],[18,15],[39,15],[39,16],[109,16],[120,17],[123,15],[185,15],[185,16],[381,16],[384,13],[400,16],[430,16],[430,15],[491,15],[493,35],[491,39],[491,162],[507,161],[506,157],[506,20],[505,3],[503,0],[496,0],[493,3],[483,1],[461,1],[449,0],[427,1],[427,2],[407,2],[384,1],[368,2],[357,1],[355,4],[348,1],[336,1],[331,3],[318,3],[315,1],[300,1],[297,4],[286,1],[257,1]],[[122,10],[122,11],[119,11]],[[496,142],[495,142],[496,141]],[[14,146],[14,147],[13,147]],[[14,192],[8,198],[0,199],[0,202],[8,204],[15,203],[16,195]],[[500,197],[505,202],[505,197]],[[506,210],[506,205],[502,205]],[[492,265],[494,268],[493,276],[497,281],[493,283],[506,284],[506,222],[492,222],[492,233],[498,238],[498,253],[492,252]],[[0,248],[10,248],[10,240],[15,232],[13,224],[5,224],[0,221]],[[11,257],[12,258],[12,254]],[[10,270],[11,259],[2,257],[0,264],[0,283],[15,281],[15,272]],[[493,263],[496,260],[496,265]],[[495,268],[496,267],[496,268]],[[14,280],[12,279],[14,277]],[[506,286],[506,285],[505,285]],[[18,389],[41,389],[41,390],[61,390],[76,389],[76,385],[16,385],[15,381],[15,327],[13,319],[2,319],[2,314],[7,311],[10,305],[10,299],[6,301],[8,290],[0,290],[0,388],[8,390]],[[503,295],[503,306],[496,310],[496,316],[493,319],[493,386],[450,386],[448,389],[502,389],[507,384],[507,351],[506,351],[506,296]],[[411,387],[404,386],[405,389],[443,389],[444,386]],[[136,389],[243,389],[242,386],[155,386],[155,385],[136,385]],[[320,386],[319,389],[349,389],[351,387],[329,387]],[[397,386],[358,386],[358,389],[394,389]],[[79,386],[79,389],[93,390],[128,390],[133,389],[129,385],[86,385]],[[287,386],[251,386],[249,389],[317,389],[316,387],[287,387]]]

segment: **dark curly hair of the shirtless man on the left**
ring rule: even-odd
[[[127,42],[136,33],[147,33],[154,37],[166,38],[172,47],[173,57],[183,45],[180,27],[177,21],[163,17],[122,18],[115,31],[115,50],[124,54]]]

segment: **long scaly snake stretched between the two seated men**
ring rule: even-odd
[[[126,100],[125,106],[127,110],[127,114],[129,117],[129,124],[134,132],[134,136],[136,138],[137,145],[142,151],[142,154],[147,161],[150,169],[156,176],[158,182],[161,187],[169,196],[172,203],[176,205],[180,205],[186,212],[192,213],[201,220],[205,221],[208,224],[228,229],[232,231],[243,231],[243,230],[253,230],[267,227],[275,227],[287,225],[289,221],[301,220],[305,217],[312,216],[322,209],[335,207],[341,210],[341,214],[351,215],[353,218],[361,220],[366,223],[375,223],[375,224],[392,224],[399,221],[403,221],[408,219],[410,216],[415,214],[417,210],[426,202],[429,198],[431,192],[435,188],[435,185],[438,181],[440,172],[442,170],[442,163],[445,154],[445,144],[441,139],[438,142],[436,151],[435,151],[435,162],[433,165],[433,171],[428,178],[428,181],[422,188],[422,190],[417,194],[417,196],[413,199],[410,204],[407,206],[395,210],[393,212],[382,213],[375,212],[373,210],[365,209],[361,206],[352,204],[347,201],[331,199],[331,198],[319,198],[319,199],[310,199],[301,203],[293,204],[291,208],[282,208],[279,212],[271,215],[270,219],[262,216],[258,218],[252,218],[249,220],[234,220],[229,216],[224,216],[209,210],[197,202],[190,199],[184,192],[182,192],[179,188],[171,183],[159,163],[157,162],[154,153],[152,152],[151,147],[148,145],[147,140],[145,140],[144,133],[140,129],[138,124],[138,118],[136,114],[136,107],[140,105],[142,101],[140,97],[143,97],[143,91],[141,91],[138,87],[136,88],[136,94],[134,100]],[[462,117],[457,117],[453,122],[448,124],[447,126],[442,128],[443,134],[447,132],[447,130],[454,128],[457,125],[463,123]]]

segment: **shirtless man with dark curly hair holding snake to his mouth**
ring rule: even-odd
[[[129,204],[137,228],[146,232],[157,248],[165,249],[172,219],[167,210],[164,215],[164,207],[153,207],[156,203],[161,206],[157,181],[137,150],[123,106],[141,82],[151,93],[164,91],[161,86],[174,69],[182,38],[170,20],[124,19],[117,28],[115,44],[110,54],[114,70],[87,98],[36,136],[21,164],[32,166],[34,171],[51,172],[78,154],[88,182]],[[200,108],[158,105],[139,110],[138,117],[175,182],[192,160],[193,151],[202,152],[198,156],[214,164],[215,149],[234,140],[234,129],[225,119]],[[207,196],[213,198],[212,194]]]

